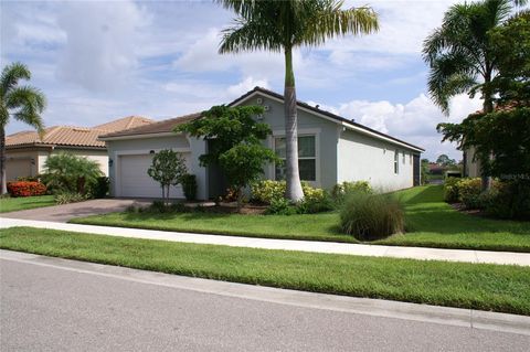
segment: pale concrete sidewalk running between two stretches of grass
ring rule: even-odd
[[[38,228],[62,230],[95,235],[119,236],[130,238],[161,239],[197,244],[224,245],[262,249],[300,250],[310,253],[346,254],[371,257],[394,257],[423,260],[448,260],[463,263],[486,263],[501,265],[530,266],[530,253],[488,252],[468,249],[438,249],[423,247],[398,247],[380,245],[361,245],[349,243],[251,238],[241,236],[221,236],[206,234],[179,233],[127,227],[93,226],[64,224],[43,221],[30,221],[0,217],[0,228],[30,226]]]

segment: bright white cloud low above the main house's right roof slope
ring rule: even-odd
[[[316,105],[314,102],[309,104]],[[420,94],[406,104],[351,100],[338,106],[320,105],[320,108],[333,114],[421,146],[426,149],[425,156],[430,159],[446,153],[458,160],[462,153],[452,143],[441,143],[442,135],[436,132],[436,125],[444,121],[459,122],[480,107],[480,99],[469,99],[467,95],[459,95],[452,99],[451,115],[447,117],[425,94]]]

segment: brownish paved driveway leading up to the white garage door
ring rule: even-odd
[[[83,217],[88,215],[98,215],[114,212],[123,212],[129,205],[146,206],[152,200],[149,199],[100,199],[89,200],[80,203],[54,205],[31,209],[19,212],[3,213],[1,217],[39,220],[66,223],[74,217]]]

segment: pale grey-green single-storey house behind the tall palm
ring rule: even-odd
[[[265,142],[285,156],[284,97],[255,87],[229,104],[262,105],[262,122],[271,125],[273,136]],[[346,119],[318,107],[297,102],[300,179],[314,186],[330,189],[342,181],[369,181],[382,190],[399,190],[420,184],[420,156],[424,151],[398,138]],[[160,186],[147,174],[152,154],[161,149],[179,151],[190,173],[198,181],[198,198],[223,194],[225,182],[219,168],[202,168],[199,156],[212,140],[191,138],[172,130],[180,124],[200,118],[201,113],[171,118],[124,131],[100,136],[109,156],[110,193],[114,196],[158,198]],[[266,179],[279,180],[285,173],[279,166],[267,166]],[[176,186],[170,196],[182,198]]]

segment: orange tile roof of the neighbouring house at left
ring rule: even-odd
[[[36,131],[21,131],[6,137],[7,147],[22,146],[71,146],[105,148],[105,142],[98,140],[100,135],[124,128],[134,128],[152,124],[151,119],[129,116],[95,127],[53,126],[44,130],[41,139]]]

